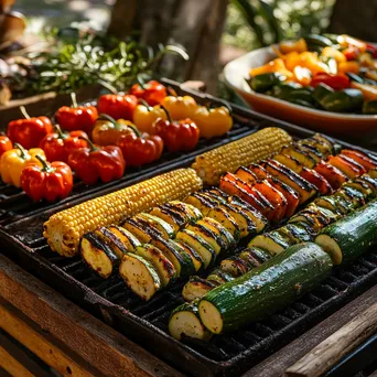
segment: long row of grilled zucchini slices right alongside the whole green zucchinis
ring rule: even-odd
[[[371,171],[373,172],[373,171]],[[192,277],[184,286],[186,301],[202,298],[206,292],[265,263],[292,245],[313,241],[326,225],[363,206],[377,196],[377,180],[363,174],[346,182],[333,195],[317,197],[278,229],[254,237],[246,249],[220,262],[207,279]]]

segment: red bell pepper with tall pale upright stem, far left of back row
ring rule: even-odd
[[[24,149],[36,148],[46,134],[54,131],[53,125],[47,117],[31,118],[23,106],[20,107],[20,110],[25,119],[10,121],[7,136],[12,142],[18,142]]]

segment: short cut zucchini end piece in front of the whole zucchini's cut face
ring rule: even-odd
[[[202,341],[208,341],[212,336],[200,319],[197,302],[186,302],[174,309],[169,320],[169,332],[177,341],[182,335]]]

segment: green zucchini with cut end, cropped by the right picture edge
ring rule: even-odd
[[[315,244],[328,252],[334,265],[359,257],[377,244],[377,200],[325,227]]]

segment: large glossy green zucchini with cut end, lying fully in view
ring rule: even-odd
[[[326,278],[328,255],[312,243],[284,252],[206,293],[198,303],[202,323],[212,333],[236,330],[281,309]]]

